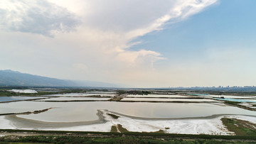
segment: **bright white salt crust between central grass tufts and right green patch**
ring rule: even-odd
[[[223,126],[220,120],[223,116],[209,119],[177,120],[140,120],[124,116],[114,119],[107,116],[106,113],[104,116],[105,120],[111,121],[114,126],[121,124],[128,131],[154,132],[162,130],[165,133],[233,135]]]

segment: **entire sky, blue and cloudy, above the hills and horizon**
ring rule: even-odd
[[[255,0],[1,0],[0,70],[127,87],[256,85]]]

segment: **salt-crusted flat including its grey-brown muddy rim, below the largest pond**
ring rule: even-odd
[[[234,135],[228,131],[221,118],[237,118],[256,123],[256,116],[214,115],[195,118],[137,118],[113,111],[98,110],[97,121],[53,123],[18,118],[16,115],[0,117],[1,123],[9,123],[13,129],[33,129],[47,131],[101,131],[110,132],[112,126],[120,126],[132,132],[156,132],[178,134]],[[11,123],[11,124],[10,124]],[[2,126],[2,125],[0,125]],[[3,127],[1,127],[3,128]]]

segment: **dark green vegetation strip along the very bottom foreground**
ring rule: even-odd
[[[225,140],[204,140],[204,139],[175,139],[175,138],[142,138],[123,135],[122,137],[82,137],[82,136],[5,136],[0,138],[0,143],[163,143],[163,144],[210,144],[210,143],[238,143],[247,144],[255,142],[247,141],[225,141]]]

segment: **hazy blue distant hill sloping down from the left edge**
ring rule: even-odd
[[[0,86],[24,87],[118,87],[105,82],[63,80],[12,70],[0,70]]]

